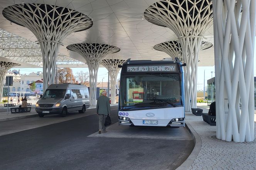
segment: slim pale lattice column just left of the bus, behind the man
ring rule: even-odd
[[[110,86],[111,86],[111,103],[116,103],[116,79],[118,72],[121,68],[118,68],[118,65],[123,65],[125,60],[119,59],[104,59],[102,60],[102,65],[109,71],[110,76]]]

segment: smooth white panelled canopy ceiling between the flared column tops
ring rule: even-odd
[[[29,29],[10,23],[2,15],[5,7],[21,3],[20,1],[0,0],[0,28],[15,33],[31,41],[36,41],[35,35]],[[63,40],[59,52],[67,57],[85,62],[78,53],[68,51],[67,45],[74,43],[104,43],[120,48],[119,53],[108,55],[106,58],[132,60],[161,60],[167,58],[164,52],[153,49],[153,46],[167,41],[177,40],[178,37],[166,27],[148,22],[143,18],[144,11],[155,0],[54,0],[45,1],[24,0],[24,3],[47,3],[74,9],[93,19],[93,27],[88,30],[71,33]],[[207,31],[205,41],[213,43],[213,28]],[[198,66],[214,65],[214,50],[209,48],[200,52]]]

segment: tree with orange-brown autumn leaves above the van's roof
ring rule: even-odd
[[[59,83],[76,83],[76,78],[73,75],[71,68],[58,68],[57,76],[59,79]]]

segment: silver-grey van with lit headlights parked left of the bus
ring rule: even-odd
[[[68,112],[84,113],[90,106],[89,90],[84,85],[52,84],[45,90],[35,105],[39,117],[47,114],[60,114],[65,117]]]

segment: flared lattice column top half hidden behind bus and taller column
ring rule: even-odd
[[[206,50],[208,48],[211,48],[212,46],[213,46],[212,43],[203,41],[201,44],[200,50]],[[178,57],[179,60],[183,62],[182,50],[181,50],[180,43],[178,41],[168,41],[168,42],[159,43],[157,45],[154,45],[153,48],[155,50],[167,53],[172,60],[175,60],[175,58]]]

